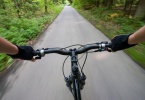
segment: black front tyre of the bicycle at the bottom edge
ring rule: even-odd
[[[79,82],[77,79],[74,79],[73,81],[73,95],[75,100],[82,100]]]

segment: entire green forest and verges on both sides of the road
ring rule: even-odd
[[[66,3],[110,39],[145,25],[145,0],[0,0],[0,36],[17,45],[32,45]],[[125,52],[145,68],[144,43]],[[12,62],[1,54],[0,71]]]

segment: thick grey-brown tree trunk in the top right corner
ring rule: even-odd
[[[144,19],[145,18],[145,0],[140,0],[138,8],[135,13],[135,18]]]

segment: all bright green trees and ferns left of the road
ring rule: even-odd
[[[32,45],[63,7],[62,0],[0,0],[0,36],[17,45]],[[12,62],[0,54],[0,71]]]

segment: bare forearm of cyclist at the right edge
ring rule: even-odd
[[[141,42],[145,42],[145,26],[130,35],[128,39],[128,44],[137,44]]]

